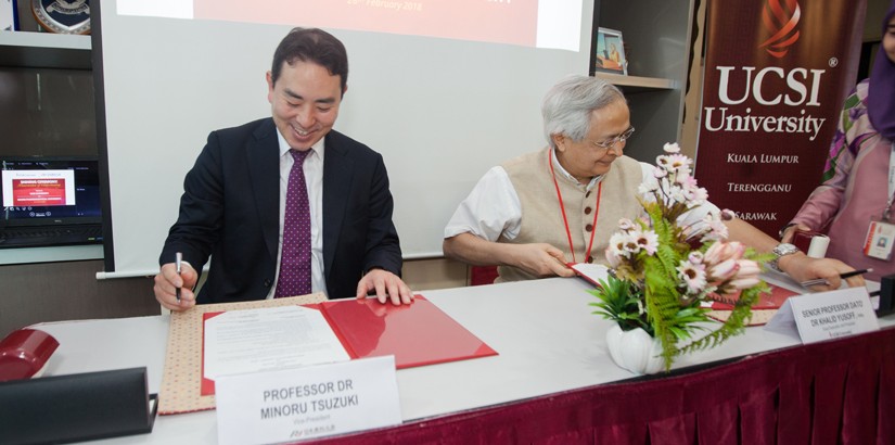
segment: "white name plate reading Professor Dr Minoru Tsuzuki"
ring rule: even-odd
[[[395,357],[373,357],[216,381],[219,444],[269,444],[401,422]]]

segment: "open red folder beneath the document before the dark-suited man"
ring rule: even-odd
[[[337,300],[305,305],[323,313],[351,358],[395,356],[397,369],[497,355],[422,295],[410,305],[382,304],[375,298]],[[207,313],[204,320],[220,313]],[[203,335],[203,357],[205,355]],[[205,360],[203,358],[203,368]],[[215,393],[202,371],[202,395]]]

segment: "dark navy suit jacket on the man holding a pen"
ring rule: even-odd
[[[323,263],[331,298],[354,296],[361,276],[400,274],[401,251],[382,156],[335,130],[323,158]],[[277,276],[280,160],[271,118],[213,131],[183,181],[180,215],[159,264],[176,252],[196,270],[197,303],[261,300]]]

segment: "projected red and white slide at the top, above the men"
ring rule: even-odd
[[[583,0],[118,0],[119,15],[294,25],[578,51]]]

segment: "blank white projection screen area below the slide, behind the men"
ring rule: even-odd
[[[208,134],[270,116],[273,50],[294,25],[316,24],[122,15],[115,0],[99,3],[112,228],[100,276],[150,276]],[[383,155],[405,258],[440,256],[444,227],[478,178],[546,145],[544,94],[588,73],[593,4],[576,8],[579,51],[325,28],[348,50],[334,128]]]

